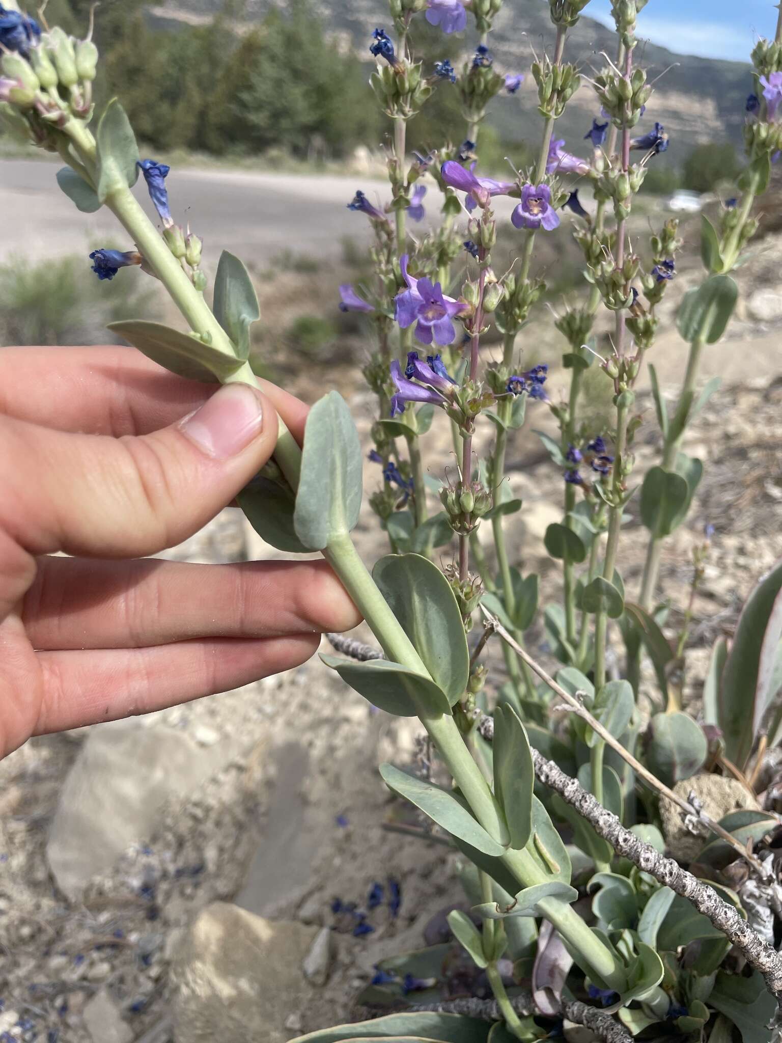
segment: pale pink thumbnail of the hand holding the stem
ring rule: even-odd
[[[206,456],[226,460],[261,434],[261,395],[247,384],[226,384],[190,416],[179,430]]]

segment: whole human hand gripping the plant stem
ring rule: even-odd
[[[132,348],[0,348],[0,756],[289,670],[359,623],[324,561],[139,560],[230,503],[276,410],[301,440],[307,407],[261,383],[215,391]]]

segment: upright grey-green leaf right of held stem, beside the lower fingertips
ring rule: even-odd
[[[469,677],[469,651],[450,584],[419,554],[389,554],[375,564],[372,578],[453,706]]]

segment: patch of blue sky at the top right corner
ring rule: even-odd
[[[592,0],[584,11],[613,26],[610,0]],[[638,16],[638,34],[680,54],[749,60],[760,37],[773,37],[772,0],[649,0]]]

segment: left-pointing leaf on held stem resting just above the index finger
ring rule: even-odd
[[[124,337],[158,366],[191,381],[216,384],[230,377],[242,365],[241,359],[160,322],[125,319],[109,322],[108,329]]]

